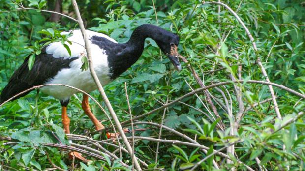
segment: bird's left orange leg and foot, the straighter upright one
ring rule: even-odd
[[[62,113],[61,113],[61,117],[62,117],[62,124],[63,124],[63,129],[64,132],[66,134],[70,134],[70,119],[68,117],[67,114],[67,107],[66,106],[62,106]],[[83,162],[88,162],[89,160],[85,159],[81,153],[78,152],[70,152],[69,156],[72,158],[77,158],[79,160],[82,160]]]

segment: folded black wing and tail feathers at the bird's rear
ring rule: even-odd
[[[27,90],[36,85],[42,85],[49,79],[53,78],[61,69],[69,68],[71,61],[78,57],[64,59],[64,57],[55,58],[52,54],[45,52],[46,48],[42,49],[41,54],[36,56],[35,63],[29,71],[27,57],[23,64],[14,72],[13,76],[9,79],[8,84],[4,87],[0,95],[0,104],[14,95]],[[24,93],[15,99],[27,95],[29,92]]]

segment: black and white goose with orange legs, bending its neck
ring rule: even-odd
[[[44,84],[70,85],[81,89],[87,93],[97,89],[89,70],[82,71],[82,57],[86,56],[85,43],[82,32],[79,29],[61,32],[62,35],[69,35],[70,53],[61,42],[53,42],[42,48],[39,55],[35,57],[35,62],[29,70],[29,57],[26,57],[21,66],[13,73],[0,95],[0,104],[12,98],[16,94],[31,87]],[[152,24],[138,26],[132,32],[130,39],[126,43],[118,43],[109,36],[86,30],[91,46],[91,54],[94,70],[101,82],[106,85],[119,77],[130,68],[142,55],[146,38],[153,39],[162,52],[167,55],[176,68],[181,70],[179,62],[178,45],[180,38],[178,35]],[[71,44],[70,44],[71,43]],[[62,123],[64,132],[70,133],[70,119],[67,115],[67,106],[73,94],[77,90],[65,86],[51,85],[40,88],[43,93],[58,99],[62,107]],[[21,94],[12,100],[25,96]],[[82,109],[88,115],[96,130],[105,128],[104,125],[91,112],[88,95],[83,94]],[[113,134],[113,133],[112,133]],[[107,133],[107,136],[111,135]],[[78,152],[70,152],[70,157],[75,157],[82,161],[88,161]]]

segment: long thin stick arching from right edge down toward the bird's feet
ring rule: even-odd
[[[294,95],[296,95],[296,96],[299,96],[299,97],[305,99],[305,95],[304,95],[304,94],[301,94],[301,93],[299,93],[299,92],[297,92],[297,91],[295,91],[295,90],[292,90],[292,89],[290,89],[290,88],[288,88],[288,87],[286,87],[286,86],[284,86],[284,85],[278,85],[278,84],[275,84],[275,83],[272,83],[272,82],[259,81],[259,80],[226,81],[226,82],[216,83],[216,84],[213,84],[213,85],[208,85],[208,86],[206,86],[206,87],[204,87],[204,88],[198,88],[198,89],[196,89],[196,90],[194,90],[194,91],[192,91],[192,92],[189,92],[189,93],[187,93],[187,94],[185,94],[185,95],[183,95],[183,96],[177,98],[176,100],[174,100],[174,101],[172,101],[172,102],[170,102],[170,103],[167,103],[167,104],[165,104],[165,105],[163,105],[163,106],[161,106],[161,107],[159,107],[159,108],[156,108],[156,109],[154,109],[154,110],[152,110],[152,111],[150,111],[150,112],[148,112],[148,113],[146,113],[146,114],[141,114],[141,115],[139,115],[139,116],[137,116],[137,117],[134,117],[133,120],[138,120],[138,119],[143,118],[143,117],[145,117],[145,116],[147,116],[147,115],[153,114],[153,113],[156,112],[156,111],[159,111],[159,110],[162,110],[162,109],[164,109],[164,108],[166,108],[166,107],[169,107],[169,106],[171,106],[171,105],[173,105],[173,104],[175,104],[175,103],[178,103],[179,101],[181,101],[182,99],[184,99],[184,98],[186,98],[186,97],[192,96],[192,95],[194,95],[194,94],[196,94],[196,93],[198,93],[198,92],[204,91],[204,90],[206,90],[206,89],[210,89],[210,88],[217,87],[217,86],[221,86],[221,85],[234,84],[234,83],[254,83],[254,84],[272,85],[272,86],[276,86],[276,87],[278,87],[278,88],[281,88],[281,89],[283,89],[283,90],[285,90],[285,91],[288,91],[288,92],[290,92],[290,93],[292,93],[292,94],[294,94]],[[121,124],[122,124],[122,125],[125,125],[126,123],[129,123],[129,122],[130,122],[130,121],[127,120],[127,121],[122,122]],[[105,130],[108,130],[108,129],[110,129],[110,128],[109,128],[109,127],[108,127],[108,128],[105,128]],[[103,129],[103,130],[104,130],[104,129]],[[100,131],[103,131],[103,130],[100,130]],[[98,131],[98,132],[100,132],[100,131]]]

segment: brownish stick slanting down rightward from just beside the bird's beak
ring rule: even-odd
[[[187,61],[187,59],[186,59],[185,57],[181,56],[181,55],[178,55],[178,57],[181,58],[181,59],[183,60],[183,62],[187,63],[187,67],[192,71],[192,73],[193,73],[193,75],[194,75],[194,77],[195,77],[197,83],[200,85],[200,87],[204,88],[205,85],[204,85],[203,82],[201,81],[201,79],[200,79],[200,77],[198,76],[198,74],[197,74],[197,72],[195,71],[195,69],[194,69],[194,68],[190,65],[190,63]],[[221,118],[220,115],[219,115],[218,112],[217,112],[217,109],[216,109],[215,105],[213,104],[213,102],[212,102],[212,100],[211,100],[211,97],[210,97],[210,94],[208,93],[208,90],[205,90],[205,91],[204,91],[204,94],[205,94],[205,96],[207,97],[207,101],[208,101],[208,103],[211,105],[212,110],[213,110],[215,116],[217,116],[217,118]],[[224,126],[224,124],[222,123],[222,120],[220,120],[219,123],[220,123],[220,125],[221,125],[221,126],[220,126],[221,130],[224,130],[225,126]]]

